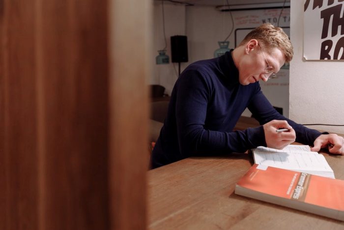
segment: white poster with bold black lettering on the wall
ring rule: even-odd
[[[304,58],[344,60],[343,0],[304,2]]]

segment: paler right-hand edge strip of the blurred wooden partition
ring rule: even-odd
[[[150,7],[145,0],[110,4],[112,229],[145,229],[148,87],[143,76],[151,63],[146,58],[151,57]]]

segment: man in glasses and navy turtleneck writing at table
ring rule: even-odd
[[[173,87],[152,151],[152,168],[190,156],[243,153],[258,146],[282,149],[295,139],[314,145],[312,151],[329,146],[330,153],[344,154],[343,137],[296,124],[280,115],[261,92],[258,81],[276,75],[292,55],[287,34],[266,23],[225,55],[188,66]],[[246,108],[261,126],[232,131]]]

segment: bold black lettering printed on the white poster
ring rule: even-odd
[[[326,1],[327,4],[325,3]],[[337,2],[343,1],[344,0],[337,0]],[[304,5],[304,11],[309,9],[310,2],[311,0],[306,0]],[[320,9],[322,6],[330,6],[334,3],[335,0],[313,0],[312,10],[314,10],[317,7]],[[336,44],[334,44],[334,41],[331,40],[331,37],[334,37],[338,34],[339,28],[341,28],[340,35],[344,35],[344,16],[341,17],[343,7],[343,3],[341,3],[332,7],[325,8],[320,11],[320,18],[323,20],[321,39],[329,38],[321,43],[320,60],[344,60],[344,36],[338,39]],[[332,24],[330,25],[331,18]],[[331,28],[331,33],[329,33],[329,28]],[[332,48],[334,48],[334,53],[333,57],[331,58],[329,53]],[[341,50],[342,56],[339,57]]]

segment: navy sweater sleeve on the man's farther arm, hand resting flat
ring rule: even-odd
[[[286,120],[296,132],[296,142],[306,145],[313,145],[315,139],[321,135],[321,132],[308,129],[307,127],[297,124],[278,113],[268,99],[266,99],[266,97],[263,95],[260,87],[258,87],[257,92],[253,96],[248,108],[252,112],[253,116],[258,120],[260,125],[272,120]]]

